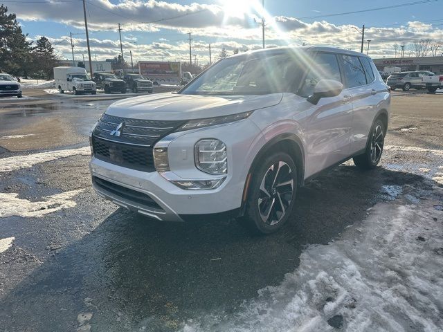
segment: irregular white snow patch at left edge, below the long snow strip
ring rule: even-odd
[[[39,202],[19,199],[19,194],[3,194],[0,192],[0,218],[6,216],[44,216],[58,210],[73,208],[77,203],[71,199],[82,191],[62,192],[62,194],[47,196],[44,201]]]

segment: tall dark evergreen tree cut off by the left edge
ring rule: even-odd
[[[30,66],[30,44],[15,14],[0,5],[0,69],[11,75],[28,75]]]

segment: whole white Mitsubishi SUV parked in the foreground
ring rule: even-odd
[[[361,53],[235,55],[178,93],[112,104],[91,131],[93,186],[161,221],[222,213],[274,232],[321,171],[350,158],[379,163],[389,109],[388,86]]]

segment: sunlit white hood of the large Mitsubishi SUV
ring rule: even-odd
[[[192,120],[264,109],[280,100],[282,93],[244,96],[159,93],[119,100],[105,113],[142,120]]]

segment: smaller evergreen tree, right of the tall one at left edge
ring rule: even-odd
[[[33,69],[37,77],[49,80],[53,75],[53,68],[56,66],[57,55],[48,38],[40,37],[33,47]]]

